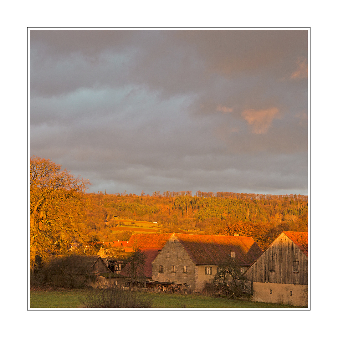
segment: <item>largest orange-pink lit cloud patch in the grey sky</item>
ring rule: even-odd
[[[242,112],[242,117],[252,125],[252,132],[265,134],[269,129],[272,120],[279,118],[279,110],[276,107],[262,110],[247,109]]]

